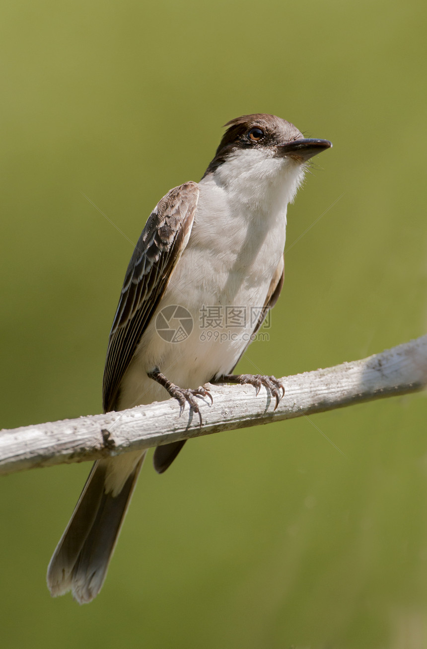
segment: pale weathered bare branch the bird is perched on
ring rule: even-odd
[[[212,386],[213,405],[199,417],[180,416],[175,399],[122,412],[89,415],[0,431],[0,474],[116,456],[178,439],[293,419],[427,387],[427,335],[363,360],[282,378],[276,411],[262,388]]]

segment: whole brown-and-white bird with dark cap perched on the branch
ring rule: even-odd
[[[284,396],[274,376],[233,372],[283,286],[287,205],[332,143],[269,114],[225,127],[201,180],[168,191],[138,239],[108,340],[105,412],[173,397],[201,422],[208,382],[265,386],[276,407]],[[184,442],[154,450],[156,471]],[[85,604],[101,590],[145,453],[93,464],[47,569],[53,596]]]

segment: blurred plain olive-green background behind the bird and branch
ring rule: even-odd
[[[426,5],[18,0],[2,16],[1,426],[101,411],[128,239],[243,113],[334,149],[289,209],[288,246],[324,215],[241,370],[425,332]],[[164,476],[147,463],[79,607],[45,570],[89,468],[1,480],[3,646],[427,646],[425,395],[204,437]]]

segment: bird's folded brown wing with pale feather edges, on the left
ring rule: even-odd
[[[169,191],[149,216],[136,244],[108,340],[103,382],[105,412],[114,410],[123,375],[187,245],[198,200],[195,182]]]

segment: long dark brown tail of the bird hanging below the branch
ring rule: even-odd
[[[125,453],[93,465],[47,568],[53,597],[71,591],[86,604],[101,590],[144,457]]]

